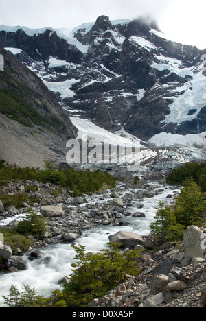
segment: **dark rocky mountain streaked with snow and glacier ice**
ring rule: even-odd
[[[206,50],[168,40],[155,22],[100,16],[72,31],[0,25],[0,45],[43,80],[79,130],[83,119],[152,148],[205,149]]]

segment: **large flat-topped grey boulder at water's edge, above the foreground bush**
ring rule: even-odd
[[[123,248],[135,248],[138,244],[141,246],[144,244],[144,239],[141,235],[133,232],[117,232],[113,235],[109,235],[108,239],[112,243],[119,243]]]

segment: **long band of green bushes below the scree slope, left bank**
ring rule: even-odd
[[[103,184],[106,184],[107,187],[115,187],[116,185],[116,179],[100,169],[96,171],[76,171],[72,167],[56,169],[50,162],[45,162],[45,169],[21,168],[16,165],[10,166],[0,160],[0,185],[4,185],[10,180],[49,182],[71,189],[76,196],[83,193],[95,193],[102,188]]]

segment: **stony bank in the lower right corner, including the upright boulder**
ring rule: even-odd
[[[189,226],[181,243],[165,243],[159,250],[141,252],[141,273],[128,276],[89,307],[205,307],[206,261],[201,240],[205,231]],[[203,236],[203,237],[202,237]]]

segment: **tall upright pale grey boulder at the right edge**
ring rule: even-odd
[[[184,235],[184,257],[205,259],[205,233],[195,225],[188,226]]]

